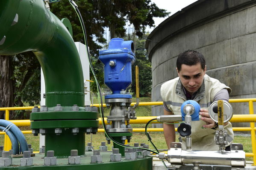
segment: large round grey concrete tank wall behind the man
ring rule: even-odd
[[[205,56],[206,74],[230,86],[230,98],[256,98],[256,0],[198,0],[162,22],[148,39],[152,101],[162,101],[161,85],[177,77],[177,56],[187,49]],[[235,114],[249,113],[247,103],[232,106]],[[152,107],[152,115],[162,114],[162,106]]]

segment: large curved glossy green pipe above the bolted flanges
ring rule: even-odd
[[[0,23],[0,55],[32,51],[41,64],[46,106],[84,107],[82,65],[74,40],[44,1],[0,0]]]

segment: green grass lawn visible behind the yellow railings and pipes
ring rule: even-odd
[[[94,103],[97,103],[97,99],[94,98]],[[135,102],[136,99],[132,98],[132,102]],[[140,98],[140,102],[146,102],[150,101],[149,97]],[[110,109],[104,108],[105,116],[109,115]],[[136,116],[151,116],[151,106],[144,106],[144,107],[137,107],[136,108]],[[144,127],[145,124],[132,124],[132,128],[138,128],[138,127]],[[149,126],[150,127],[150,126]],[[21,130],[29,130],[29,127],[20,127]],[[100,127],[102,128],[102,127]],[[158,149],[167,149],[165,138],[162,132],[151,132],[150,136],[152,138],[153,143],[156,145]],[[39,150],[39,136],[33,136],[32,134],[25,134],[26,140],[28,144],[32,144],[32,147],[34,150]],[[178,137],[176,137],[178,139]],[[106,137],[104,133],[97,133],[96,135],[92,135],[92,145],[94,146],[94,149],[98,149],[101,142],[106,141]],[[91,135],[85,135],[85,143],[91,142]],[[245,153],[252,153],[252,145],[251,145],[251,138],[250,136],[240,136],[235,135],[234,143],[241,143],[244,147]],[[0,135],[0,146],[3,146],[4,143],[4,135]],[[134,143],[145,143],[148,144],[151,149],[153,149],[153,146],[150,144],[150,142],[147,140],[147,136],[144,133],[133,133],[131,143],[129,143],[131,146],[133,146]],[[106,144],[108,147],[108,150],[111,150],[112,142],[111,144]],[[252,157],[247,157],[247,161],[252,161]]]

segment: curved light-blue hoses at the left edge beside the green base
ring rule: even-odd
[[[10,133],[13,135],[13,136],[10,135],[9,138],[12,141],[12,146],[13,146],[13,150],[14,150],[15,154],[17,154],[17,152],[19,153],[19,150],[17,149],[17,143],[21,147],[21,153],[23,153],[26,150],[29,150],[29,148],[27,146],[27,142],[26,142],[25,136],[23,135],[21,130],[15,124],[13,124],[10,121],[6,121],[6,120],[3,120],[3,119],[0,119],[0,127],[4,127],[6,129],[5,131],[7,131],[6,134],[8,136],[9,136]],[[8,132],[10,132],[10,133],[8,133]]]

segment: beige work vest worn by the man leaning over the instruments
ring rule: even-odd
[[[208,75],[204,76],[204,82],[198,89],[197,95],[193,99],[199,103],[200,108],[208,109],[213,102],[214,96],[221,90],[226,88],[231,92],[230,87],[222,84],[215,78],[211,78]],[[161,86],[161,96],[163,101],[167,104],[174,115],[180,115],[180,107],[183,102],[186,101],[185,94],[182,89],[181,81],[178,78],[174,78],[165,82]],[[214,135],[216,130],[209,128],[203,128],[206,124],[204,121],[192,121],[191,124],[191,138],[192,138],[192,150],[219,150],[218,145],[215,144]],[[225,127],[228,134],[234,138],[232,125],[229,122]],[[231,142],[232,143],[232,142]],[[230,145],[229,143],[228,145]],[[185,138],[182,138],[182,148],[185,149]]]

